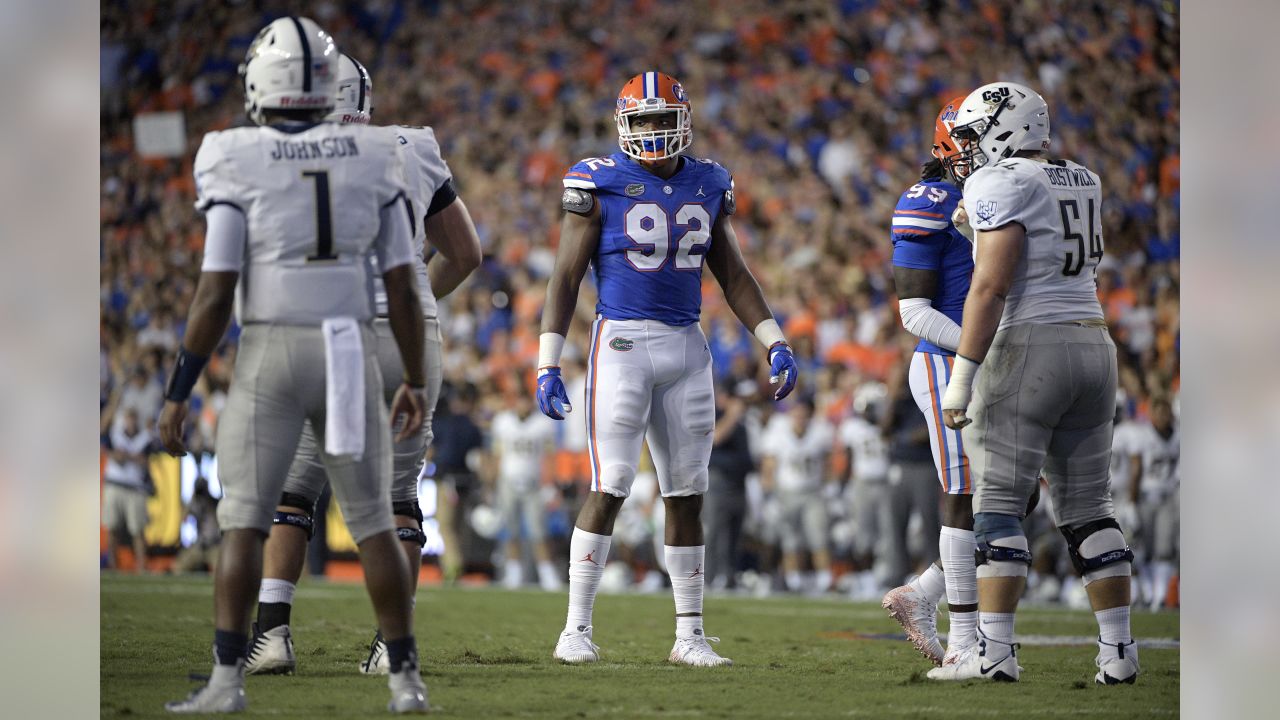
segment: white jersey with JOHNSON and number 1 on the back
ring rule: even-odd
[[[379,240],[381,210],[403,206],[404,163],[383,128],[319,123],[297,132],[241,127],[205,136],[196,209],[227,204],[246,219],[237,310],[243,323],[320,324],[374,316],[367,258],[389,266],[410,247]]]

